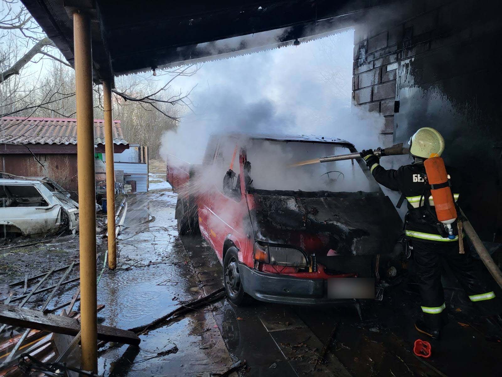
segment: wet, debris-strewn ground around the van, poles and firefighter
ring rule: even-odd
[[[221,265],[208,244],[200,237],[177,235],[176,194],[162,182],[165,169],[151,170],[151,188],[152,181],[164,186],[128,197],[118,267],[104,269],[99,281],[98,304],[105,308],[98,316],[106,325],[127,329],[149,323],[222,284]],[[4,253],[4,291],[6,281],[22,278],[30,268],[38,273],[69,264],[78,255],[76,240]],[[99,250],[98,272],[103,245]],[[64,293],[51,306],[71,298],[76,287],[62,288]],[[18,294],[22,289],[17,288]],[[245,360],[246,368],[239,371],[245,376],[500,375],[502,343],[484,339],[462,292],[450,289],[446,295],[450,324],[443,340],[431,341],[432,356],[426,360],[412,353],[413,342],[420,338],[412,325],[419,316],[416,286],[402,284],[386,289],[383,301],[364,303],[362,318],[353,305],[311,308],[255,302],[236,308],[222,299],[141,335],[139,348],[106,345],[100,350],[99,373],[212,376]],[[39,296],[27,307],[40,305],[44,295]],[[335,325],[327,362],[314,365]]]

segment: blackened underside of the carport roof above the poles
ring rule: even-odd
[[[71,12],[92,16],[94,78],[105,79],[263,50],[354,25],[365,10],[393,0],[22,0],[73,64]],[[253,38],[281,29],[274,39]],[[250,35],[241,43],[214,41]],[[213,44],[211,44],[213,43]]]

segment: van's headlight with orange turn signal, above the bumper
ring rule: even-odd
[[[308,267],[307,257],[293,247],[260,245],[255,242],[255,260],[279,266]]]

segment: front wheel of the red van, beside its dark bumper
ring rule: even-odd
[[[253,299],[244,292],[239,273],[237,249],[229,247],[223,260],[223,284],[228,300],[237,306],[249,304]]]

